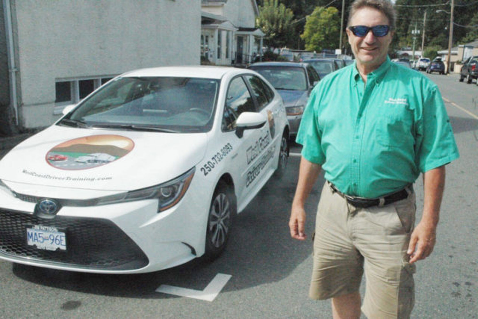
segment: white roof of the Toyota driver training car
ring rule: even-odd
[[[224,75],[242,74],[245,69],[230,66],[161,66],[133,70],[121,77],[202,77],[220,79]]]

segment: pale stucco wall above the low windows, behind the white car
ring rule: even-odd
[[[200,0],[14,2],[27,128],[55,120],[56,78],[200,63]]]

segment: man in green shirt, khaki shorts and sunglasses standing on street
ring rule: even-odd
[[[289,227],[304,240],[304,202],[323,169],[310,296],[332,298],[334,318],[408,318],[414,263],[432,253],[445,165],[458,150],[436,85],[387,55],[395,11],[388,0],[356,0],[348,19],[355,64],[322,79],[297,135],[303,144]],[[414,227],[413,183],[424,208]]]

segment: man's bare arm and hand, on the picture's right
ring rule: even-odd
[[[412,232],[407,253],[410,263],[425,259],[432,252],[436,241],[436,226],[440,215],[440,205],[445,189],[445,166],[429,170],[423,174],[424,208],[422,220]]]

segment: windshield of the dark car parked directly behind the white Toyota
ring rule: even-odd
[[[307,78],[302,67],[295,66],[253,66],[277,90],[307,89]]]

